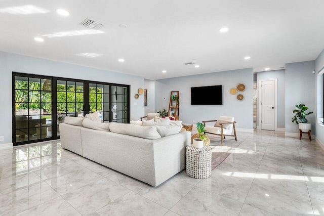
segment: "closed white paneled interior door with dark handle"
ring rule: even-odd
[[[276,80],[260,80],[261,129],[275,131],[276,128]]]

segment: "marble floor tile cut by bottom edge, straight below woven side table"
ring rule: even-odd
[[[179,215],[238,215],[243,203],[194,187],[170,210]]]

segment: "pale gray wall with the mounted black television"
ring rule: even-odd
[[[244,83],[244,100],[238,101],[230,94],[231,88]],[[223,105],[191,105],[190,88],[207,85],[223,85]],[[155,110],[168,109],[170,92],[180,91],[180,120],[192,123],[217,119],[219,116],[234,116],[240,128],[253,129],[253,69],[240,69],[171,79],[155,82]],[[211,97],[213,97],[211,95]],[[164,100],[166,98],[166,100]]]

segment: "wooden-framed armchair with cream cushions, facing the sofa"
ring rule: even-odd
[[[217,122],[218,121],[218,122]],[[216,122],[214,126],[206,125],[207,122]],[[213,134],[217,136],[221,136],[222,138],[222,146],[225,136],[228,137],[235,137],[235,141],[237,141],[236,137],[236,130],[235,130],[235,123],[234,117],[227,117],[227,116],[220,116],[217,120],[208,120],[203,121],[205,126],[205,134]],[[234,130],[234,135],[232,132]]]

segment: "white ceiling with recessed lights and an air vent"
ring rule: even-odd
[[[7,8],[26,5],[46,13],[8,13]],[[58,15],[59,8],[70,16]],[[275,70],[286,63],[314,60],[322,51],[323,8],[323,0],[1,0],[0,51],[148,79],[250,67],[255,72]],[[78,25],[87,17],[104,23],[103,33],[43,36],[89,30]],[[221,27],[229,31],[221,33]],[[45,41],[35,41],[36,36]],[[78,56],[81,53],[101,56]],[[246,56],[251,59],[244,60]]]

